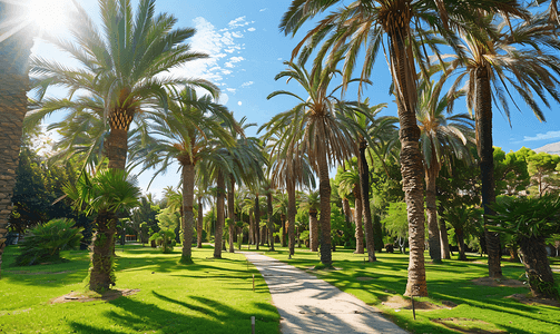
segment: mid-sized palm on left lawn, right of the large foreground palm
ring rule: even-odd
[[[194,222],[195,166],[202,160],[219,160],[217,145],[233,147],[230,132],[223,126],[234,125],[228,110],[212,101],[206,95],[198,97],[189,87],[174,91],[167,111],[147,115],[148,128],[140,128],[134,136],[132,160],[143,161],[144,168],[164,173],[176,159],[181,168],[183,180],[183,263],[191,263]]]

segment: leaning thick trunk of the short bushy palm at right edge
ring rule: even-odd
[[[554,276],[547,256],[544,237],[523,237],[519,240],[529,287],[536,297],[558,298]]]

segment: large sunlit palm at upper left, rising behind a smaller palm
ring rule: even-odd
[[[86,11],[78,13],[69,24],[75,42],[48,39],[81,65],[69,68],[42,57],[31,60],[31,73],[38,76],[35,87],[42,95],[50,86],[68,89],[68,98],[47,99],[60,108],[36,110],[36,118],[43,118],[55,110],[63,110],[72,104],[76,91],[87,91],[104,101],[104,120],[110,131],[106,138],[106,156],[109,168],[124,169],[128,153],[128,130],[135,116],[159,99],[167,102],[167,84],[181,81],[163,73],[187,61],[206,58],[207,55],[190,51],[186,40],[195,33],[191,28],[173,29],[177,19],[161,13],[155,17],[155,0],[140,0],[132,19],[130,1],[100,0],[102,30],[95,27]],[[217,88],[205,80],[190,80],[191,85],[209,89]]]

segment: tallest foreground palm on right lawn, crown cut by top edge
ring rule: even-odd
[[[337,62],[341,55],[345,58],[343,67],[344,85],[351,81],[357,55],[365,48],[365,59],[361,77],[367,79],[376,60],[377,51],[383,46],[399,109],[401,170],[403,189],[409,212],[410,264],[406,295],[428,295],[424,267],[424,205],[422,181],[422,156],[419,148],[420,129],[416,125],[416,66],[423,72],[424,53],[414,42],[417,35],[436,31],[452,48],[456,49],[454,36],[449,28],[464,26],[464,22],[478,21],[477,10],[501,11],[521,14],[517,1],[460,1],[460,0],[356,0],[342,4],[343,0],[294,0],[284,13],[281,29],[295,35],[303,24],[340,4],[336,10],[321,20],[310,30],[302,42],[294,49],[293,56],[302,50],[307,58],[312,48],[321,46],[315,62],[322,62],[328,53],[330,60]],[[428,28],[428,30],[424,30]],[[384,37],[386,36],[386,39]],[[425,36],[424,36],[425,39]],[[386,45],[386,47],[385,47]],[[304,47],[305,46],[305,47]],[[302,49],[303,47],[303,49]],[[434,49],[436,51],[436,49]],[[461,55],[461,53],[459,53]],[[419,61],[415,61],[419,59]]]

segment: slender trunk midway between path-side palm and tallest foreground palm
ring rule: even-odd
[[[357,159],[357,169],[360,173],[360,195],[362,197],[362,206],[364,210],[364,226],[365,226],[365,246],[367,248],[367,261],[375,262],[375,239],[373,233],[372,209],[370,207],[370,167],[365,159],[365,148],[367,143],[360,141],[360,157]]]

